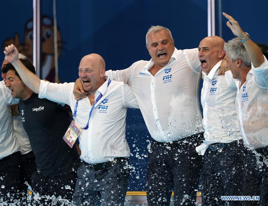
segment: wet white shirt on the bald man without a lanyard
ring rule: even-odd
[[[237,89],[228,85],[224,75],[218,76],[221,62],[222,60],[208,75],[202,71],[204,82],[201,103],[205,141],[196,148],[201,154],[204,154],[208,145],[212,143],[230,143],[242,139],[236,115]]]

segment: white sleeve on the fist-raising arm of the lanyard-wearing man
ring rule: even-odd
[[[57,84],[41,80],[38,97],[40,99],[46,98],[52,102],[70,105],[74,85],[74,82]]]

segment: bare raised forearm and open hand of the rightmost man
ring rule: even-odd
[[[231,29],[234,35],[236,35],[240,40],[247,38],[247,34],[243,32],[238,22],[233,17],[224,12],[222,14],[229,20],[227,21],[227,26]],[[255,68],[264,63],[264,57],[261,49],[251,39],[244,41],[243,44],[250,57],[250,61]]]

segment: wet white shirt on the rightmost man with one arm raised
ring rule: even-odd
[[[236,111],[244,143],[252,149],[268,146],[268,61],[247,74],[247,80],[241,81],[225,75],[227,81],[237,88]]]

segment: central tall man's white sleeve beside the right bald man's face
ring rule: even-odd
[[[183,52],[188,64],[190,65],[190,68],[196,73],[201,72],[202,68],[198,57],[198,49],[184,49]]]

